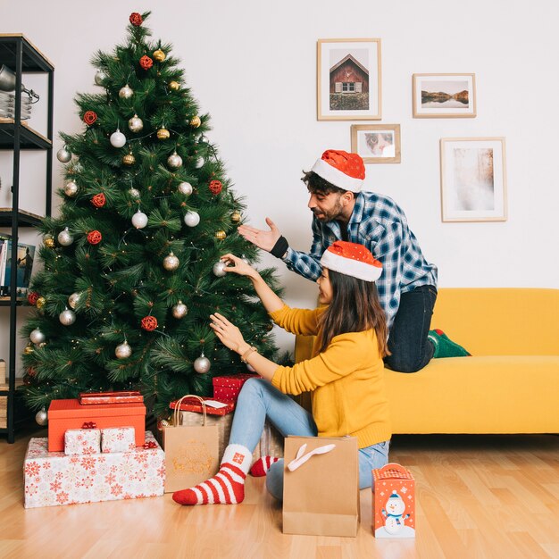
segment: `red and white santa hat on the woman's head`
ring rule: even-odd
[[[357,243],[336,241],[322,254],[321,264],[329,270],[353,276],[358,280],[376,281],[382,273],[382,264],[367,248]]]

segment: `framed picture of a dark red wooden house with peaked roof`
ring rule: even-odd
[[[380,121],[380,38],[317,43],[319,121]]]

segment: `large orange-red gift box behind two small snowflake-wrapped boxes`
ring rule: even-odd
[[[48,452],[64,450],[64,433],[69,429],[81,429],[84,423],[93,421],[97,429],[107,427],[133,427],[136,446],[142,446],[146,433],[146,406],[131,404],[80,405],[78,398],[53,400],[48,408]]]

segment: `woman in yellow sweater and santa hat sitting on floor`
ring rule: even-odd
[[[211,315],[221,342],[241,355],[263,379],[247,380],[238,396],[229,446],[220,471],[195,488],[173,494],[181,505],[240,503],[246,473],[266,417],[287,437],[356,437],[359,446],[359,487],[371,487],[371,470],[388,463],[390,425],[384,392],[383,362],[387,326],[375,280],[380,263],[362,245],[336,241],[322,254],[317,280],[319,302],[327,307],[290,309],[247,263],[232,254],[222,257],[228,272],[248,277],[271,318],[288,332],[316,335],[314,357],[282,367],[258,354],[240,330],[220,313]],[[313,413],[288,394],[311,392]],[[269,471],[267,471],[269,468]],[[270,457],[254,464],[273,496],[283,495],[283,460]]]

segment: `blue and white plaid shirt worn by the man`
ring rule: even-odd
[[[321,255],[342,234],[338,221],[321,223],[313,218],[313,246],[310,253],[288,248],[283,259],[288,269],[309,280],[321,275]],[[423,285],[437,287],[437,266],[428,263],[407,224],[405,213],[387,196],[360,192],[347,223],[347,240],[366,246],[382,263],[377,280],[380,305],[392,326],[400,295]]]

